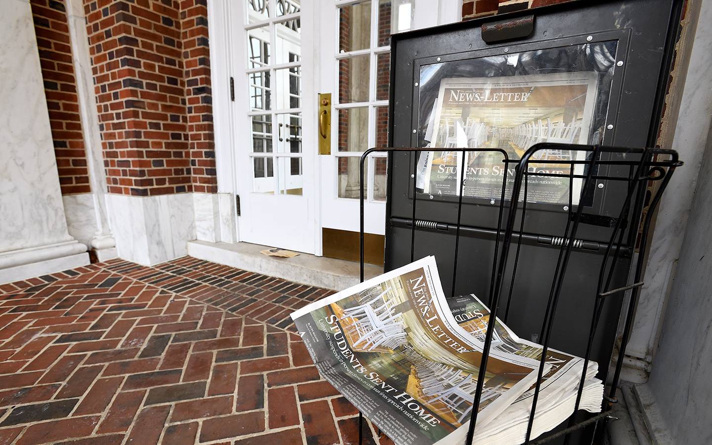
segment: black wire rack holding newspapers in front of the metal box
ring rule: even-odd
[[[367,150],[361,157],[360,162],[360,253],[361,253],[361,281],[364,280],[364,171],[365,162],[370,154],[374,152],[385,152],[389,156],[389,167],[392,166],[395,157],[410,157],[412,165],[414,165],[412,178],[412,187],[417,189],[417,172],[415,171],[415,158],[419,152],[431,151],[431,148],[410,148],[410,147],[395,147],[395,148],[372,148]],[[610,299],[623,300],[627,295],[627,305],[619,305],[621,308],[622,329],[620,334],[620,344],[615,355],[616,360],[610,366],[612,368],[612,376],[608,376],[609,363],[601,363],[599,376],[607,383],[607,392],[604,395],[602,412],[597,415],[577,413],[582,389],[585,382],[585,372],[582,373],[580,380],[575,411],[570,416],[567,422],[562,423],[557,429],[549,431],[538,438],[531,438],[531,428],[537,408],[537,400],[540,390],[540,379],[543,373],[543,366],[539,368],[538,383],[535,387],[533,396],[533,405],[530,410],[528,429],[525,444],[542,444],[551,441],[560,441],[563,444],[569,443],[593,443],[595,437],[600,437],[602,430],[607,425],[612,417],[610,409],[617,402],[616,392],[619,385],[620,373],[623,365],[623,357],[625,354],[627,342],[629,340],[632,324],[634,320],[635,308],[638,302],[638,296],[643,285],[642,271],[644,268],[646,251],[649,249],[649,232],[651,229],[651,218],[644,218],[644,214],[654,214],[657,205],[660,202],[661,195],[666,189],[670,181],[671,175],[676,167],[682,165],[678,155],[674,150],[661,149],[638,149],[638,148],[622,148],[622,147],[602,147],[594,145],[562,145],[540,143],[530,147],[529,150],[521,157],[521,159],[509,159],[505,150],[501,149],[476,149],[476,148],[450,148],[456,152],[491,152],[500,153],[502,155],[501,162],[508,166],[513,166],[514,177],[511,184],[511,199],[506,199],[506,189],[508,189],[508,171],[506,169],[504,179],[502,181],[501,196],[496,205],[497,224],[496,236],[494,239],[493,257],[491,259],[491,277],[488,295],[488,307],[491,313],[497,314],[507,322],[507,317],[510,308],[522,303],[522,298],[518,298],[513,292],[513,284],[518,279],[518,271],[525,270],[532,266],[527,261],[520,257],[520,251],[523,246],[523,241],[532,238],[528,234],[526,222],[528,220],[528,184],[529,177],[534,174],[530,172],[530,164],[545,164],[548,162],[545,159],[537,159],[538,154],[544,150],[571,150],[572,152],[585,153],[585,160],[571,160],[567,162],[570,167],[568,174],[557,173],[541,173],[535,174],[539,177],[558,177],[564,178],[568,182],[569,205],[567,206],[566,218],[563,230],[557,237],[557,255],[555,261],[548,264],[550,276],[545,277],[550,280],[548,289],[548,298],[545,299],[545,310],[543,317],[538,320],[540,323],[540,343],[543,345],[544,353],[541,358],[540,365],[544,364],[546,351],[550,347],[552,341],[552,331],[556,325],[557,315],[560,315],[560,310],[557,314],[557,307],[562,299],[575,298],[577,304],[585,307],[590,320],[590,329],[587,330],[587,336],[582,336],[575,339],[585,347],[584,369],[590,360],[592,360],[592,346],[595,339],[595,334],[600,326],[600,318],[604,302]],[[451,296],[456,296],[456,281],[458,273],[467,273],[468,269],[473,268],[473,264],[466,263],[458,265],[459,247],[461,240],[466,235],[466,227],[462,226],[464,212],[468,209],[463,207],[463,187],[466,182],[464,176],[464,157],[461,162],[461,177],[465,180],[459,183],[460,193],[457,199],[457,221],[453,226],[447,229],[454,230],[455,243],[452,249],[451,258],[437,258],[439,263],[446,261],[452,264],[452,283]],[[401,172],[402,174],[403,172]],[[389,169],[389,184],[392,181],[394,172]],[[590,267],[597,270],[597,284],[587,288],[581,288],[577,295],[562,295],[562,283],[567,278],[571,278],[569,273],[570,258],[574,248],[580,248],[580,241],[577,240],[577,233],[580,232],[582,224],[585,222],[585,205],[574,205],[575,192],[572,187],[576,179],[580,179],[582,187],[581,195],[592,192],[597,184],[606,182],[606,184],[616,184],[617,190],[622,191],[620,206],[617,210],[615,218],[611,219],[609,231],[609,239],[602,243],[600,250],[603,251],[600,256],[600,263],[591,265]],[[417,231],[437,231],[443,229],[439,226],[427,225],[423,226],[419,221],[427,220],[426,215],[418,214],[417,199],[412,200],[412,214],[407,225],[410,230],[410,260],[414,261],[422,256],[428,255],[431,252],[423,248],[416,248],[416,232]],[[531,206],[530,206],[531,208]],[[632,258],[632,263],[624,263],[620,261],[622,258]],[[628,264],[632,264],[632,274],[624,271],[624,276],[631,277],[627,283],[617,283],[614,279],[617,270],[623,266],[626,268]],[[444,281],[445,281],[444,276]],[[573,279],[576,279],[574,277]],[[477,422],[477,412],[479,399],[482,393],[484,375],[486,371],[486,363],[488,352],[492,342],[493,320],[490,317],[486,331],[485,342],[483,345],[483,358],[480,365],[478,375],[478,386],[473,400],[473,409],[470,419],[468,436],[466,444],[471,445],[473,440],[473,431]],[[615,337],[618,326],[614,326],[612,335]],[[362,415],[359,417],[359,443],[362,443]],[[601,428],[597,428],[601,426]]]

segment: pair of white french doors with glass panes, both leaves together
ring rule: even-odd
[[[457,20],[460,7],[460,0],[226,2],[240,241],[320,255],[323,228],[359,230],[359,160],[387,145],[389,36]],[[331,155],[317,155],[318,93],[332,93]],[[370,234],[384,234],[386,171],[384,154],[368,159]]]

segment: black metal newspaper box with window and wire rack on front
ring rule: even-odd
[[[518,336],[595,360],[597,377],[608,385],[601,414],[575,412],[536,439],[530,437],[534,403],[528,443],[588,444],[616,401],[650,248],[646,215],[654,214],[681,164],[671,150],[619,147],[656,146],[682,8],[680,0],[575,1],[391,36],[388,141],[377,137],[377,148],[367,150],[361,162],[364,187],[368,157],[388,160],[384,268],[434,255],[445,295],[478,295]],[[539,91],[540,98],[516,106],[466,101],[457,108],[445,98],[446,88],[458,84],[483,95],[525,88]],[[562,85],[577,85],[581,92],[563,95]],[[571,105],[576,100],[580,105]],[[553,109],[563,110],[555,134]],[[505,133],[495,142],[493,130],[477,133],[476,125],[502,131],[532,115],[538,128],[526,130],[536,137],[525,144]],[[444,130],[432,130],[442,116]],[[497,122],[500,117],[509,122]],[[561,125],[574,123],[581,127],[564,137]],[[541,137],[545,126],[549,130]],[[517,147],[503,144],[506,139]],[[420,148],[427,144],[435,148]],[[420,152],[436,150],[461,154],[429,162],[459,172],[442,195],[418,182]],[[566,150],[579,155],[555,162],[541,156]],[[502,182],[490,183],[488,196],[473,193],[478,187],[470,167],[478,164],[466,166],[464,160],[473,152],[506,167]],[[558,167],[550,166],[543,173],[536,167],[548,163],[568,169],[552,172]],[[536,177],[559,183],[555,199],[542,199],[545,181],[537,184]],[[362,189],[362,265],[365,198]],[[536,387],[534,400],[538,392]],[[481,386],[476,400],[480,394]],[[581,390],[576,407],[580,395]],[[476,412],[475,407],[468,443]]]

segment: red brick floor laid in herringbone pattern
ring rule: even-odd
[[[357,443],[289,318],[330,292],[189,257],[0,285],[0,445]]]

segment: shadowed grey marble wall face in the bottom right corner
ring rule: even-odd
[[[710,6],[710,5],[708,5]],[[703,9],[705,5],[703,4]],[[712,9],[712,8],[708,8]],[[700,24],[708,23],[701,17]],[[708,51],[712,48],[708,47]],[[706,85],[709,88],[709,85]],[[710,127],[708,127],[710,128]],[[712,130],[712,129],[711,129]],[[712,137],[702,171],[712,169]],[[712,443],[712,179],[702,174],[645,385],[675,444]],[[657,443],[657,442],[655,442]]]

